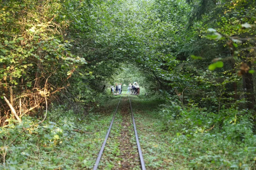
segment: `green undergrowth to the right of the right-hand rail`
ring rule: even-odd
[[[256,168],[256,136],[247,111],[216,115],[142,98],[132,98],[132,106],[147,169]]]

